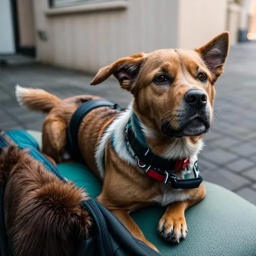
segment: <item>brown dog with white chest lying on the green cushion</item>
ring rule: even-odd
[[[114,75],[121,88],[133,95],[125,111],[98,107],[80,125],[80,152],[103,180],[97,199],[154,249],[129,212],[153,203],[166,205],[158,230],[166,240],[178,242],[187,232],[184,211],[204,197],[205,188],[201,183],[194,189],[173,189],[160,182],[159,173],[155,174],[160,171],[157,164],[145,170],[143,162],[137,162],[125,128],[130,120],[136,143],[146,145],[150,155],[167,161],[182,159],[183,163],[189,158],[192,168],[211,124],[214,83],[223,72],[228,48],[228,33],[224,32],[195,50],[160,49],[120,58],[99,69],[91,81],[96,85]],[[43,152],[58,162],[71,115],[81,103],[98,98],[84,95],[60,100],[46,91],[20,86],[16,95],[28,108],[49,112],[43,122]],[[184,166],[168,170],[168,174],[173,172],[183,177]]]

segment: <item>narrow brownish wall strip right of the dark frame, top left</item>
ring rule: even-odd
[[[19,46],[35,45],[33,0],[16,0]]]

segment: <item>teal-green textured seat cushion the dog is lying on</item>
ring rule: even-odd
[[[59,171],[91,196],[101,191],[101,182],[85,165],[58,164]],[[218,185],[204,182],[206,197],[185,212],[188,233],[179,244],[159,236],[157,223],[164,207],[147,207],[131,213],[132,218],[161,255],[255,256],[256,206]]]

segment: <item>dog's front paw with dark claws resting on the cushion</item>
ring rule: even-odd
[[[187,233],[186,220],[183,216],[162,216],[158,224],[160,235],[168,242],[179,242]]]

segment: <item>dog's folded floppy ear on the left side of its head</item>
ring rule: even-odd
[[[139,73],[143,56],[144,53],[140,52],[129,57],[120,58],[112,64],[100,68],[90,82],[90,85],[99,84],[110,75],[114,75],[122,88],[131,91],[132,85],[134,85],[134,81]]]

